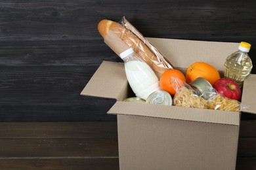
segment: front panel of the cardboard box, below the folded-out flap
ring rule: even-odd
[[[120,169],[235,169],[238,126],[117,115]]]

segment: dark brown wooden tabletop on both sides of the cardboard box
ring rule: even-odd
[[[256,169],[255,128],[241,122],[237,170]],[[114,121],[0,123],[0,169],[119,169],[117,144]]]

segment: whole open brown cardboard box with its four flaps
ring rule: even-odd
[[[186,69],[196,61],[224,69],[239,43],[148,38],[165,57]],[[244,82],[245,112],[256,112],[256,75]],[[235,169],[240,112],[127,103],[131,89],[123,63],[103,61],[81,92],[116,99],[120,169]],[[100,105],[100,103],[99,103]]]

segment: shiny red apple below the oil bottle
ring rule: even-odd
[[[224,97],[236,99],[238,101],[241,99],[242,92],[240,87],[230,78],[220,78],[213,84],[213,88]]]

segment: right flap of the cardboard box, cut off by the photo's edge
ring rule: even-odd
[[[244,88],[242,94],[242,104],[248,105],[248,109],[242,109],[242,112],[256,114],[256,90],[255,90],[256,75],[248,75],[244,80]]]

